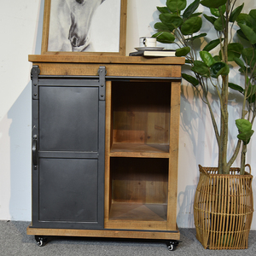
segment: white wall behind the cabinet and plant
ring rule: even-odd
[[[238,0],[236,5],[242,2]],[[155,7],[165,3],[166,0],[128,0],[126,55],[138,46],[139,37],[154,33],[154,23],[158,19]],[[188,0],[188,3],[192,3],[192,0]],[[247,12],[256,9],[255,1],[247,0],[244,9]],[[15,1],[15,4],[13,1],[0,1],[0,219],[31,220],[32,64],[27,61],[27,55],[40,54],[43,10],[44,0]],[[206,31],[210,28],[204,26]],[[230,97],[230,109],[234,109],[230,119],[239,117],[234,108],[238,102],[239,96]],[[231,142],[234,143],[234,125],[230,125],[230,131],[233,132]],[[255,148],[256,139],[253,137],[247,163],[251,164],[254,177]],[[194,97],[191,87],[183,84],[177,191],[179,227],[194,226],[193,197],[199,178],[198,164],[216,166],[217,157],[217,145],[207,108]],[[239,160],[236,162],[238,165]],[[255,178],[253,193],[256,198]],[[252,229],[256,230],[256,213]]]

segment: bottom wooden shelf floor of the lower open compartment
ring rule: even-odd
[[[113,202],[109,220],[166,221],[166,204]]]

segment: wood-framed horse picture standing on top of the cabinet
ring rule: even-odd
[[[42,55],[125,55],[127,0],[44,0]]]

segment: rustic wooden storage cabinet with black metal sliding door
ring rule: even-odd
[[[183,58],[30,55],[28,235],[178,241]]]

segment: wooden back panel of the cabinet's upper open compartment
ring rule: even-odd
[[[113,82],[113,143],[168,144],[171,84]]]

